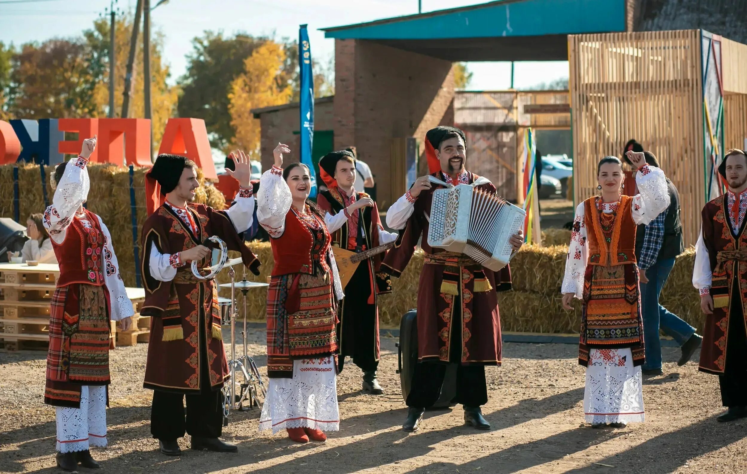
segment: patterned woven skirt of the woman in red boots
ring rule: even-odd
[[[334,354],[337,322],[332,275],[273,276],[267,293],[267,375],[291,378],[294,359]]]

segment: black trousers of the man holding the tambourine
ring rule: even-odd
[[[199,328],[205,327],[204,311],[199,311]],[[199,340],[199,393],[185,395],[153,390],[150,411],[150,433],[159,440],[176,440],[185,431],[190,436],[220,437],[223,433],[223,394],[210,386],[208,347],[205,337]],[[185,398],[187,413],[185,417]]]

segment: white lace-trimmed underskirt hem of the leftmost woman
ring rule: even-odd
[[[81,387],[81,408],[57,407],[58,452],[85,451],[106,446],[106,387]]]

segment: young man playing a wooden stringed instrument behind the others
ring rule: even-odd
[[[366,193],[356,192],[356,159],[352,152],[331,152],[319,161],[321,178],[327,190],[319,193],[317,205],[326,212],[324,221],[332,234],[332,246],[360,253],[397,239],[381,225],[376,202]],[[376,296],[391,292],[388,275],[379,272],[384,253],[362,261],[344,293],[338,311],[338,368],[345,356],[363,371],[363,390],[384,393],[376,380],[379,367],[379,308]]]

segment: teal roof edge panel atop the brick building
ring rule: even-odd
[[[499,0],[322,28],[341,40],[446,40],[625,31],[625,0]]]

